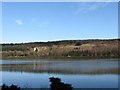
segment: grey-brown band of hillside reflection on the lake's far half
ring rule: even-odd
[[[13,63],[12,63],[13,62]],[[89,61],[3,61],[3,71],[21,72],[47,72],[63,74],[116,74],[118,61],[114,60],[89,60]]]

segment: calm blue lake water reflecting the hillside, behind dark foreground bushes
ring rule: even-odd
[[[112,59],[2,60],[1,65],[2,83],[22,88],[49,88],[53,76],[74,88],[118,88],[118,61]]]

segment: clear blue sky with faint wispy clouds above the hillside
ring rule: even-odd
[[[2,43],[114,38],[117,2],[2,3]]]

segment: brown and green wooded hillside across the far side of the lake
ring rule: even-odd
[[[118,58],[119,40],[63,40],[2,44],[7,58]]]

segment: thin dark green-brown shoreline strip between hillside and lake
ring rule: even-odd
[[[54,56],[54,57],[2,57],[1,60],[45,60],[45,59],[48,59],[48,60],[98,60],[98,59],[115,59],[117,61],[119,61],[119,58],[118,57],[57,57],[57,56]]]

